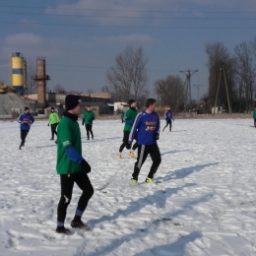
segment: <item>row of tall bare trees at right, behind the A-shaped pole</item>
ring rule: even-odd
[[[205,51],[208,54],[209,92],[204,99],[213,106],[220,84],[218,105],[227,108],[224,76],[220,70],[223,69],[232,111],[252,110],[256,95],[256,37],[235,45],[232,52],[220,41],[206,43]]]

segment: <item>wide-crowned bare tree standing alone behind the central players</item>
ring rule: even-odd
[[[128,101],[133,95],[137,100],[147,89],[147,62],[142,47],[134,50],[132,46],[127,46],[118,54],[115,57],[115,66],[110,67],[105,74],[113,96]]]

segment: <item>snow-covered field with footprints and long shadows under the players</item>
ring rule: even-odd
[[[81,122],[80,122],[81,123]],[[161,121],[161,127],[164,124]],[[83,155],[95,195],[83,221],[93,231],[55,232],[60,196],[56,145],[35,121],[19,151],[17,122],[0,122],[0,255],[256,255],[256,129],[253,119],[178,120],[160,134],[155,184],[130,186],[134,161],[116,153],[123,125],[95,121],[95,140],[81,126]],[[66,227],[81,192],[74,187]]]

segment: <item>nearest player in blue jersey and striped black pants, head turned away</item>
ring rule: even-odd
[[[138,158],[134,164],[132,174],[132,183],[134,184],[138,182],[141,167],[149,154],[153,163],[148,177],[146,178],[147,183],[154,182],[154,174],[160,166],[160,149],[157,144],[157,140],[160,138],[160,116],[155,112],[156,106],[156,99],[149,98],[147,100],[146,109],[139,113],[134,121],[128,140],[129,142],[126,146],[128,150],[131,149],[132,141],[137,133]]]

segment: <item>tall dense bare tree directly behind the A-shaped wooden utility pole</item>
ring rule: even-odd
[[[208,54],[208,69],[209,69],[209,99],[214,105],[217,95],[217,88],[220,82],[219,100],[218,103],[227,106],[227,96],[225,92],[224,76],[220,76],[221,68],[224,68],[227,92],[230,101],[235,97],[234,83],[234,60],[231,57],[228,49],[222,42],[206,43],[205,51]],[[221,78],[221,81],[220,81]]]

